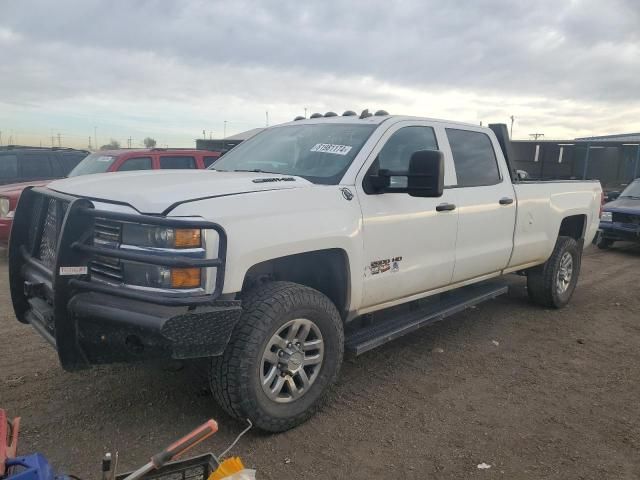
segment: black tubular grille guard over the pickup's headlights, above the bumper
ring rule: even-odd
[[[63,216],[61,215],[63,218],[58,219],[59,230],[52,270],[49,270],[37,258],[46,216],[46,209],[45,212],[35,211],[39,196],[67,204],[66,212]],[[218,258],[197,259],[180,255],[154,255],[90,245],[86,242],[93,236],[93,220],[95,218],[173,228],[214,230],[219,236]],[[35,226],[34,222],[36,222]],[[36,234],[30,235],[30,230],[33,232],[34,228]],[[72,197],[46,188],[28,188],[22,193],[16,209],[9,246],[11,299],[16,316],[22,322],[27,322],[25,314],[29,305],[25,289],[30,283],[37,284],[38,289],[44,289],[48,294],[50,297],[48,300],[53,304],[56,312],[55,317],[58,317],[59,309],[66,311],[66,305],[71,297],[80,291],[100,292],[164,306],[213,305],[222,294],[224,286],[226,252],[226,233],[220,225],[213,222],[97,210],[93,202],[85,198]],[[75,277],[60,274],[61,267],[89,267],[94,256],[119,258],[166,267],[217,267],[215,289],[210,294],[172,296],[162,292],[134,290],[125,286],[91,281],[89,273]],[[32,281],[33,278],[26,278],[26,270],[33,272],[33,275],[28,276],[35,277],[35,281]],[[60,311],[60,314],[63,312]]]

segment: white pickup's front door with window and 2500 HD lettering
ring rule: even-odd
[[[362,308],[451,282],[458,224],[457,191],[446,188],[455,182],[451,157],[445,156],[445,190],[439,198],[376,194],[367,188],[367,176],[379,169],[408,171],[414,152],[438,150],[443,140],[426,122],[399,122],[383,134],[358,174],[365,263]],[[398,187],[406,181],[393,177],[392,186],[394,178]]]

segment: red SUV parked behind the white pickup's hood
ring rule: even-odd
[[[140,150],[105,150],[92,153],[82,160],[69,177],[105,172],[125,172],[133,170],[160,169],[204,169],[220,158],[220,152],[208,150],[188,150],[151,148]],[[13,212],[22,191],[30,186],[43,187],[52,182],[16,183],[0,187],[0,245],[9,244],[9,234],[13,223]]]

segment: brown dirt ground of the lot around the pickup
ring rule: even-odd
[[[220,423],[214,452],[242,429],[189,369],[64,372],[14,320],[6,270],[0,405],[23,417],[22,452],[89,479],[105,449],[132,469],[208,417]],[[640,478],[639,284],[635,246],[590,248],[562,311],[529,305],[514,277],[508,297],[348,360],[310,422],[251,432],[235,452],[273,479]]]

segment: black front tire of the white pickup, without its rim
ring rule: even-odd
[[[325,295],[290,282],[272,282],[243,296],[243,314],[225,352],[211,362],[214,398],[231,416],[249,419],[269,432],[289,430],[311,417],[340,371],[344,351],[342,319]],[[320,330],[324,357],[319,373],[300,398],[277,403],[264,392],[260,371],[270,339],[287,322],[305,318]]]

